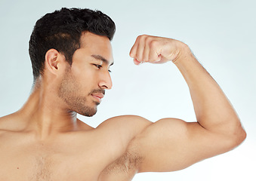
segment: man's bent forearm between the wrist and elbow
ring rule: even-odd
[[[221,87],[201,66],[187,46],[183,46],[174,64],[190,88],[196,119],[202,127],[217,133],[243,131],[233,106]]]

